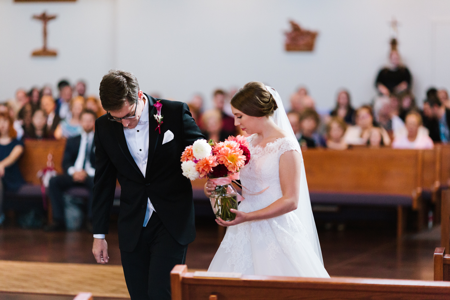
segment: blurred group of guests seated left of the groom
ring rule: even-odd
[[[5,194],[17,192],[25,184],[18,166],[25,139],[67,139],[69,146],[66,147],[64,160],[72,160],[73,169],[81,147],[80,139],[94,129],[95,119],[106,113],[99,99],[86,97],[85,93],[84,81],[78,81],[76,85],[72,86],[67,80],[62,80],[58,83],[56,99],[49,86],[32,87],[29,91],[17,90],[15,99],[0,104],[0,178],[2,179],[0,181],[0,225],[5,219],[2,209]],[[93,134],[90,136],[93,137]],[[70,146],[73,146],[73,141],[78,141],[78,147],[75,149]],[[86,149],[86,144],[83,144],[82,147]],[[94,149],[91,140],[89,147],[89,149]],[[71,154],[70,151],[75,154]],[[75,171],[72,170],[72,174],[66,170],[66,173],[72,178],[69,180],[72,185],[73,183],[83,185],[92,181],[93,174],[91,173],[93,172],[85,171],[84,158],[78,161],[78,164],[80,167]],[[65,169],[70,168],[67,166]],[[75,176],[73,176],[74,174]],[[52,181],[50,181],[50,185],[52,185],[51,183]],[[54,190],[71,187],[67,182],[65,184],[66,187],[63,188],[56,184],[53,184],[53,187],[50,186],[50,192],[58,195],[58,197],[50,199],[55,208],[61,207],[63,200]],[[55,203],[53,198],[58,198]],[[59,215],[54,213],[54,218],[61,218],[61,209],[57,209],[56,213]]]

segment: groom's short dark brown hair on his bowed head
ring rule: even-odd
[[[100,82],[100,101],[106,111],[117,111],[125,102],[136,103],[139,83],[136,76],[124,70],[109,70]]]

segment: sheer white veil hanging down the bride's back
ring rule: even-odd
[[[278,106],[278,109],[275,110],[273,116],[275,124],[282,130],[286,131],[289,134],[289,137],[295,140],[295,143],[298,144],[297,138],[295,137],[294,131],[292,130],[291,123],[289,122],[288,115],[284,110],[280,95],[274,88],[270,86],[266,85],[266,89],[270,92],[272,97],[274,97],[275,102]],[[300,145],[298,145],[297,150],[302,157],[302,174],[300,177],[300,196],[298,199],[298,206],[297,210],[295,210],[295,214],[297,215],[298,219],[300,219],[300,222],[302,222],[303,227],[306,229],[311,245],[314,247],[315,253],[320,258],[322,264],[324,264],[324,260],[322,259],[322,251],[320,251],[319,237],[317,236],[317,229],[315,228],[314,216],[312,214],[308,184],[306,183],[305,164],[303,163],[303,155],[300,149]]]

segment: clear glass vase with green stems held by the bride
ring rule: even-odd
[[[212,210],[216,218],[219,217],[224,221],[232,221],[236,218],[236,214],[230,209],[238,209],[238,192],[233,184],[217,185],[216,189],[209,196]]]

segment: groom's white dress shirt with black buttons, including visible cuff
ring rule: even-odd
[[[139,170],[145,177],[145,171],[147,170],[148,160],[148,99],[145,97],[145,105],[142,114],[139,118],[138,125],[135,128],[123,127],[123,133],[125,134],[126,145],[130,154],[138,165]],[[147,211],[145,212],[143,227],[147,226],[148,220],[152,216],[153,211],[156,211],[153,207],[150,198],[147,198]],[[94,234],[96,238],[105,238],[104,234]]]

